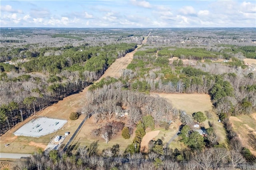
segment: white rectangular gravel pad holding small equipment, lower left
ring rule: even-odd
[[[65,123],[67,123],[66,120],[50,119],[46,117],[32,119],[14,132],[14,135],[40,137],[59,130]]]

